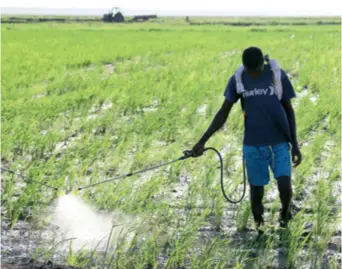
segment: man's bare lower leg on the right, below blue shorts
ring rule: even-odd
[[[280,176],[277,178],[278,190],[281,200],[280,225],[287,227],[288,221],[291,219],[290,203],[292,199],[291,177]]]

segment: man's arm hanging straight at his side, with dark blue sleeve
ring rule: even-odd
[[[298,166],[302,161],[302,154],[299,150],[298,140],[297,140],[297,126],[296,126],[296,116],[291,104],[291,98],[296,97],[295,91],[293,89],[292,83],[289,80],[286,73],[282,70],[281,81],[283,86],[283,98],[281,104],[287,115],[287,119],[290,126],[291,132],[291,146],[292,146],[292,161],[295,167]]]

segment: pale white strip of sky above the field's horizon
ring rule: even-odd
[[[292,15],[341,16],[339,0],[2,0],[3,14],[9,10],[43,10],[55,9],[56,12],[73,10],[74,12],[107,11],[111,7],[120,7],[122,12],[154,12],[157,15],[187,14],[230,14],[230,15]],[[96,15],[96,14],[94,14]],[[128,14],[127,14],[128,15]]]

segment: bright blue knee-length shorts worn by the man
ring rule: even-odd
[[[277,179],[291,176],[290,146],[281,143],[275,146],[243,146],[248,182],[253,186],[265,186],[270,182],[269,168]]]

